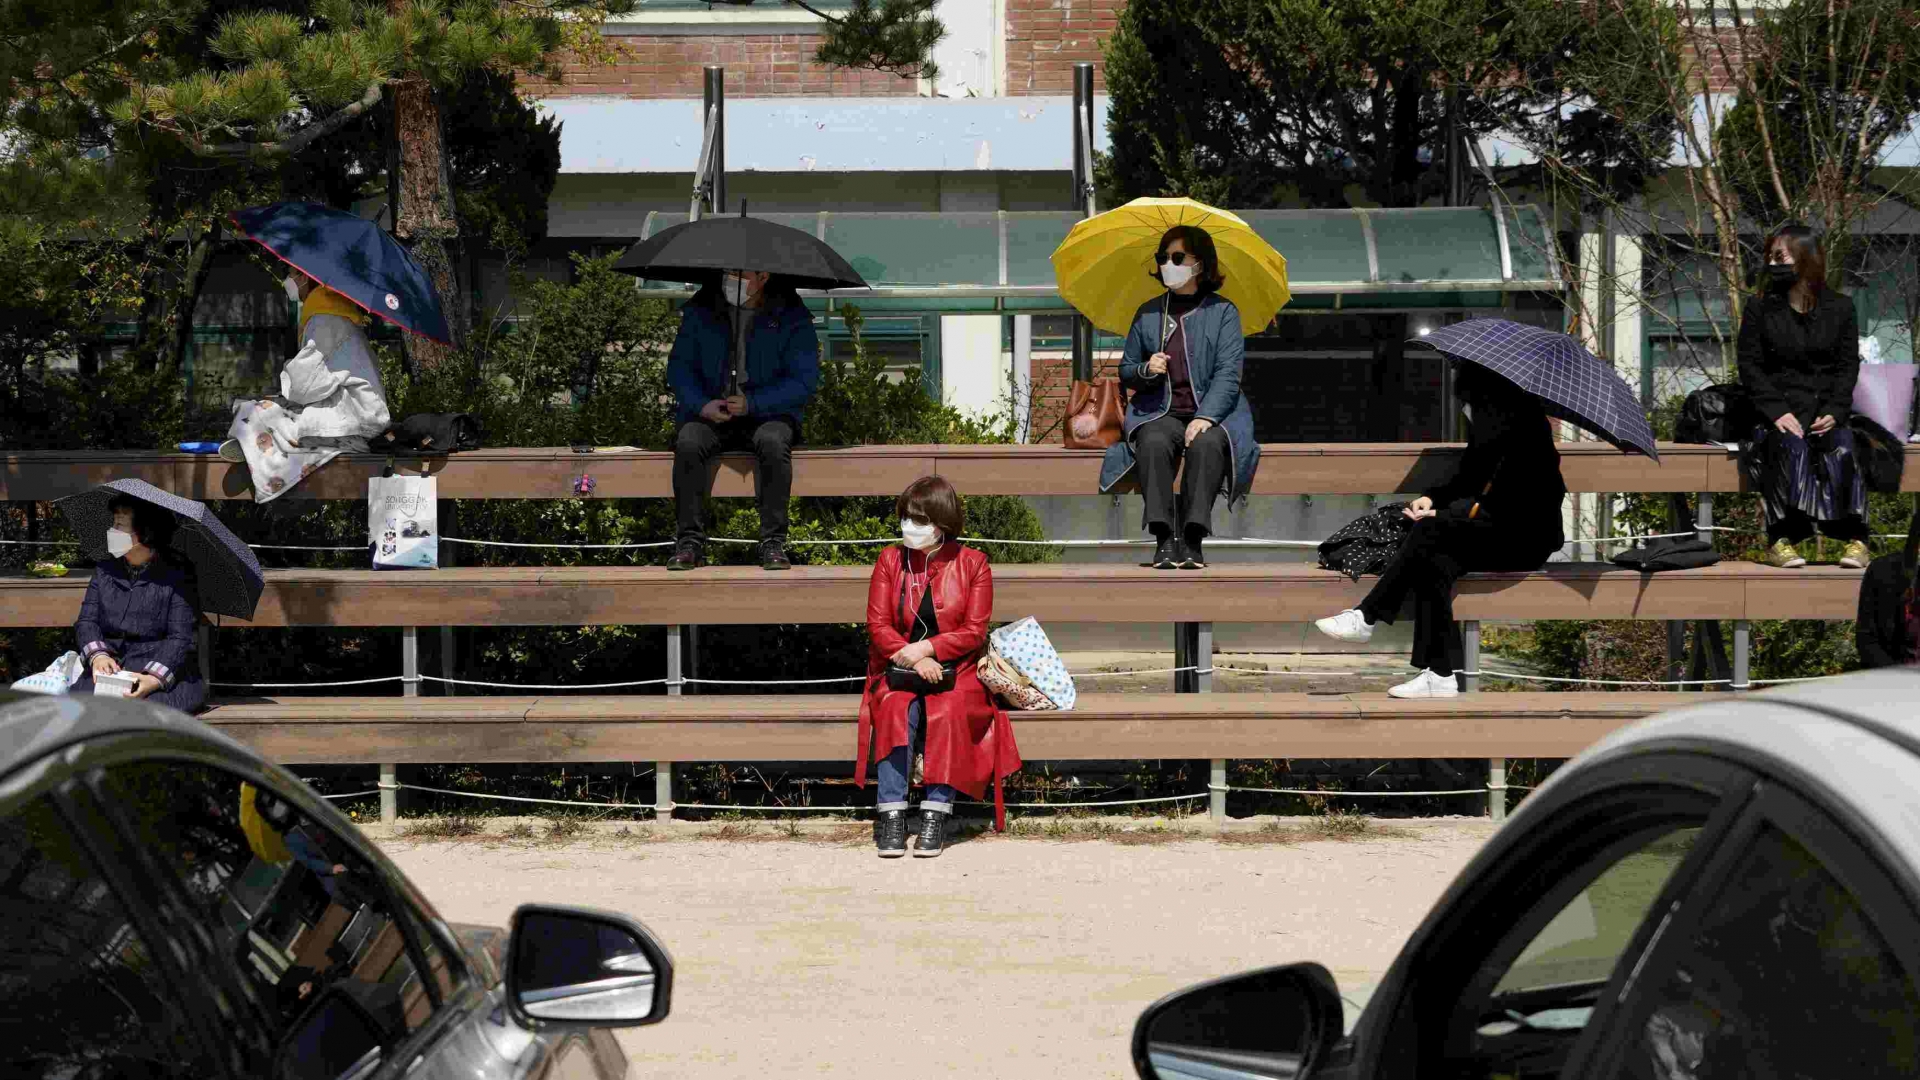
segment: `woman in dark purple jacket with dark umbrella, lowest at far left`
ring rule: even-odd
[[[125,673],[134,698],[202,709],[200,615],[253,617],[267,586],[253,550],[205,503],[146,480],[111,480],[54,505],[98,559],[73,625],[86,675],[71,692],[92,694],[96,675]]]

